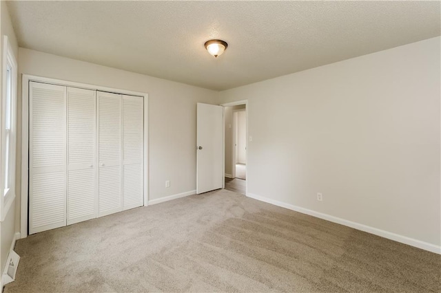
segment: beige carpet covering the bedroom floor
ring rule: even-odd
[[[17,241],[5,292],[440,292],[441,256],[231,191]]]

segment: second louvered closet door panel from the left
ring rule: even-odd
[[[96,99],[68,87],[68,225],[96,217]]]

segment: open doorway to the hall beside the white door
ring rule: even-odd
[[[231,103],[235,104],[235,103]],[[247,194],[247,105],[223,105],[225,118],[225,189]]]

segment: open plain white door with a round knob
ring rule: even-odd
[[[223,107],[197,105],[196,193],[223,186]]]

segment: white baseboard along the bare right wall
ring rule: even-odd
[[[311,215],[313,217],[318,217],[320,219],[325,219],[327,221],[331,221],[337,224],[341,224],[344,226],[348,226],[357,230],[361,230],[364,232],[368,232],[371,233],[373,235],[377,235],[380,237],[384,237],[387,239],[391,239],[393,241],[398,241],[400,243],[404,243],[407,244],[409,246],[414,246],[416,248],[421,248],[423,250],[427,250],[430,252],[435,252],[437,254],[441,254],[441,246],[436,246],[435,244],[431,244],[431,243],[427,243],[424,241],[420,241],[418,239],[413,239],[410,237],[406,237],[406,236],[402,236],[402,235],[398,235],[396,233],[393,232],[388,232],[388,231],[384,231],[384,230],[380,230],[378,228],[373,228],[371,226],[366,226],[363,224],[359,224],[353,221],[349,221],[347,219],[342,219],[339,217],[334,217],[331,215],[327,215],[324,213],[319,213],[316,212],[315,210],[309,210],[307,208],[302,208],[300,206],[294,206],[293,204],[287,204],[285,202],[279,202],[277,200],[274,199],[270,199],[268,197],[263,197],[260,195],[254,195],[252,193],[247,193],[247,197],[251,197],[257,200],[260,200],[261,202],[267,202],[268,204],[274,204],[275,206],[280,206],[282,208],[287,208],[289,210],[295,210],[298,213],[302,213],[302,214],[306,214],[306,215]]]

